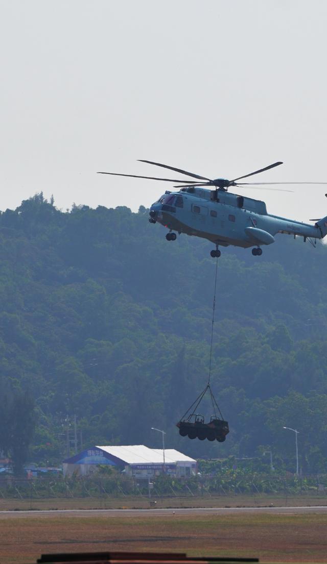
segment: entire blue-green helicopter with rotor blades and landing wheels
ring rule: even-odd
[[[167,241],[175,241],[176,232],[186,233],[208,239],[215,245],[211,257],[220,257],[219,246],[252,247],[252,255],[262,254],[261,246],[274,243],[277,233],[286,233],[308,239],[316,246],[317,239],[323,239],[327,234],[327,216],[321,219],[310,219],[315,224],[303,223],[293,219],[286,219],[267,213],[265,202],[254,200],[236,193],[229,192],[230,187],[255,187],[267,184],[327,184],[327,182],[238,182],[244,178],[282,165],[281,161],[274,162],[262,169],[241,177],[227,180],[225,178],[210,179],[198,174],[190,173],[183,169],[140,159],[150,165],[173,170],[196,180],[176,180],[171,178],[145,177],[135,174],[119,174],[99,172],[98,174],[111,174],[132,178],[146,178],[150,180],[163,180],[177,184],[173,188],[178,191],[166,190],[159,199],[151,205],[149,222],[160,223],[168,228]],[[208,187],[208,188],[206,188]],[[279,188],[264,188],[265,190],[281,190]],[[283,190],[291,192],[291,190]],[[327,194],[325,194],[327,197]]]

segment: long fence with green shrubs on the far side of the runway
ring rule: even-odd
[[[42,477],[34,479],[0,480],[0,498],[41,499],[58,497],[124,497],[148,496],[149,483],[145,480],[129,478],[123,475],[107,477]],[[190,497],[190,496],[227,496],[301,494],[304,492],[327,492],[327,475],[294,477],[293,475],[225,473],[215,476],[193,478],[169,478],[158,476],[151,483],[151,497]]]

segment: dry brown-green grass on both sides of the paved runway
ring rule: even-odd
[[[168,497],[157,508],[327,505],[326,495]],[[149,508],[146,497],[1,499],[0,510],[31,517],[0,522],[0,563],[36,562],[41,553],[173,550],[188,556],[256,556],[260,562],[327,562],[327,514],[39,517],[36,509]],[[33,514],[33,517],[32,517]]]

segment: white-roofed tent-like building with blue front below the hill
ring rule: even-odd
[[[197,461],[173,448],[164,451],[144,444],[127,446],[95,446],[63,461],[64,475],[87,475],[99,465],[111,465],[137,478],[163,473],[171,476],[197,474]]]

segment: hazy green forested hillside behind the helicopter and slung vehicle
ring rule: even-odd
[[[0,374],[36,400],[31,459],[61,461],[76,414],[84,447],[159,448],[154,426],[191,456],[272,446],[294,469],[286,425],[300,431],[303,471],[325,470],[327,248],[280,235],[262,257],[222,249],[212,387],[230,434],[220,444],[175,427],[207,381],[212,245],[164,235],[143,206],[62,212],[37,195],[0,215]]]

